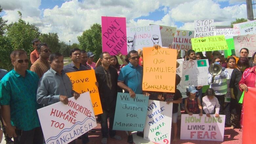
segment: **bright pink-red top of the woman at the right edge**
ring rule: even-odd
[[[256,66],[252,68],[248,68],[244,71],[242,75],[242,79],[239,82],[239,89],[240,91],[243,91],[240,88],[241,84],[245,84],[247,87],[256,88],[256,72],[255,72]]]

